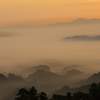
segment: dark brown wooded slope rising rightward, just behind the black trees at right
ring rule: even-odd
[[[78,86],[78,87],[70,88],[69,86],[65,85],[61,89],[53,91],[51,94],[49,94],[49,96],[51,97],[52,94],[66,95],[67,92],[75,93],[78,91],[87,93],[89,90],[90,84],[100,83],[100,72],[93,74],[92,76],[90,76],[89,78],[83,81],[85,82],[85,84],[80,87]]]

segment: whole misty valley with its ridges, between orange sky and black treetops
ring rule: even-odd
[[[48,97],[100,82],[100,19],[0,28],[0,100],[35,86]],[[10,90],[10,92],[9,92]]]

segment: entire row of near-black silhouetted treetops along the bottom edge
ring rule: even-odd
[[[21,88],[16,95],[16,100],[48,100],[46,93],[37,93],[35,87],[29,91]],[[88,93],[76,92],[73,95],[68,92],[66,95],[53,94],[49,100],[100,100],[100,83],[92,83]]]

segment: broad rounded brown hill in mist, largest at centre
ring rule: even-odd
[[[63,76],[44,70],[37,70],[35,73],[30,74],[26,80],[37,80],[40,88],[47,93],[65,84]]]

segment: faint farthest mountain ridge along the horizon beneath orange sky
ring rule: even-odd
[[[78,18],[76,20],[70,22],[58,22],[53,24],[48,24],[45,26],[28,26],[28,25],[21,25],[21,26],[9,26],[9,27],[1,27],[1,28],[40,28],[40,27],[59,27],[59,26],[70,26],[70,25],[88,25],[88,24],[100,24],[100,19],[93,18],[93,19],[85,19],[85,18]]]

